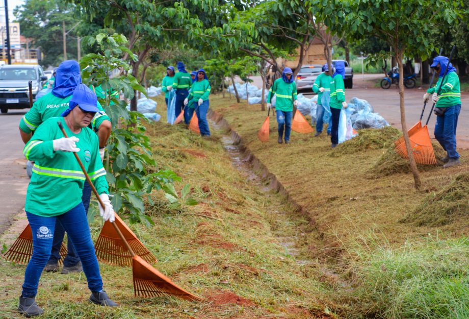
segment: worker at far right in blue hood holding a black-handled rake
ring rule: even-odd
[[[447,155],[440,160],[445,162],[443,167],[448,168],[461,163],[456,151],[456,128],[461,111],[459,77],[447,57],[434,58],[430,67],[438,72],[439,77],[436,85],[425,93],[424,102],[428,101],[431,96],[433,102],[436,103],[435,138],[447,152]],[[441,90],[438,92],[440,86]]]

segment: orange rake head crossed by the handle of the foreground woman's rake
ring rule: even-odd
[[[148,263],[158,261],[117,214],[114,224],[119,228],[129,246],[132,247],[137,255],[141,256]],[[94,249],[96,257],[102,262],[119,266],[132,266],[132,255],[110,222],[104,223]]]

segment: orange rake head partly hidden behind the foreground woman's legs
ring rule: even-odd
[[[59,259],[59,263],[62,263],[62,260],[67,256],[67,248],[63,242],[59,254],[62,257]],[[27,264],[31,256],[33,256],[33,231],[30,224],[28,224],[5,253],[4,257],[9,261]]]

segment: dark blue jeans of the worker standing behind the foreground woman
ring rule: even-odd
[[[85,208],[85,213],[88,215],[88,210],[90,208],[90,199],[91,199],[91,186],[87,181],[83,184],[83,194],[82,194],[82,203]],[[56,221],[56,228],[54,233],[54,240],[52,243],[52,250],[50,252],[50,258],[47,263],[57,264],[60,260],[60,248],[62,247],[62,241],[64,241],[65,229],[59,222],[59,219]],[[64,266],[72,267],[80,261],[78,254],[73,248],[72,240],[68,236],[67,240],[67,256],[64,258]]]

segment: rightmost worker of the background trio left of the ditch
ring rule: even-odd
[[[192,84],[191,92],[184,101],[186,112],[184,113],[184,121],[189,124],[192,114],[197,115],[199,120],[200,135],[210,136],[209,121],[207,121],[207,111],[209,111],[209,95],[212,87],[209,78],[204,69],[197,72],[197,81]]]

